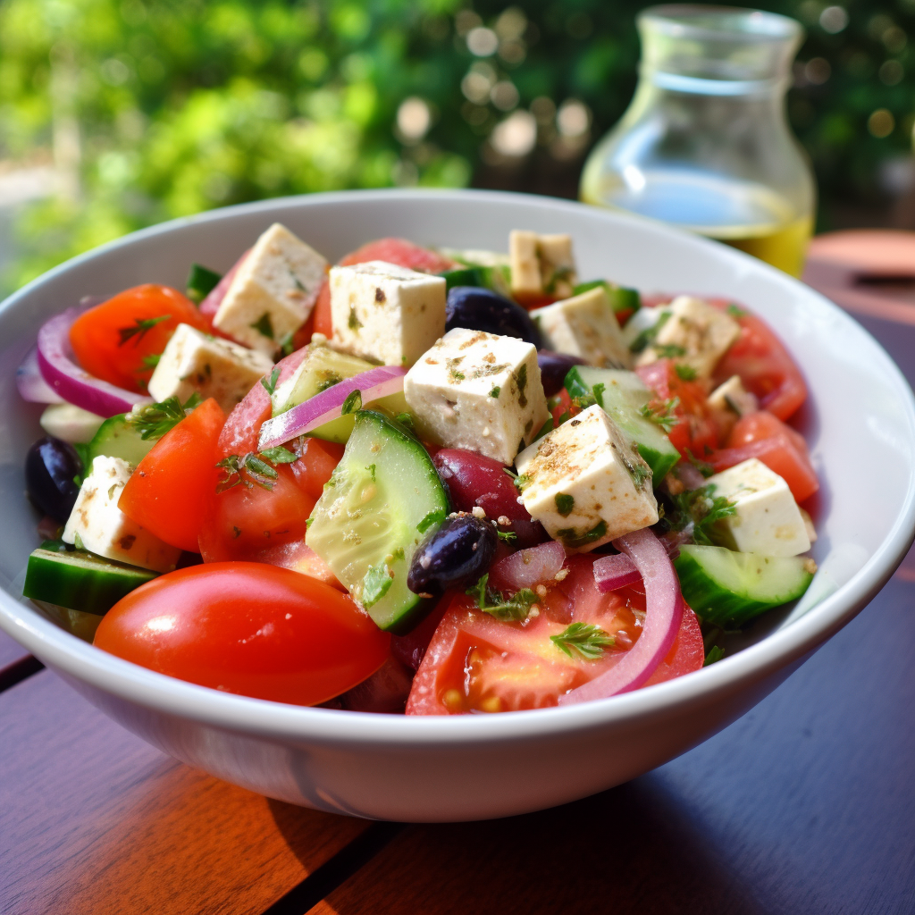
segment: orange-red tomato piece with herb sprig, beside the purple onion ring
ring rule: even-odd
[[[70,327],[70,346],[81,367],[96,378],[144,393],[155,368],[152,357],[165,350],[179,324],[210,331],[187,296],[146,283],[83,312]]]

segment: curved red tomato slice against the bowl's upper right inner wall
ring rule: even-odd
[[[718,363],[714,382],[727,382],[739,375],[748,391],[759,398],[759,406],[788,419],[807,399],[807,385],[785,345],[768,324],[756,315],[724,301],[712,301],[740,325],[737,342]]]

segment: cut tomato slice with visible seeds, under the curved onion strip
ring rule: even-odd
[[[406,714],[544,708],[607,671],[640,636],[644,595],[635,588],[601,594],[594,582],[594,561],[593,556],[571,556],[568,575],[560,583],[551,583],[538,601],[538,615],[523,623],[494,619],[479,610],[472,598],[454,597],[425,651]],[[587,660],[576,651],[566,655],[550,637],[573,621],[599,626],[616,643],[599,660]],[[696,648],[697,630],[694,614],[684,615],[676,651],[667,655],[651,683],[702,666],[705,655]],[[701,633],[698,646],[701,649]]]

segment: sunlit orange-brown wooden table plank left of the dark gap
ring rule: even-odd
[[[367,825],[167,759],[53,673],[0,694],[4,915],[256,915]]]

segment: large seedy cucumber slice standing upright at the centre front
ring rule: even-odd
[[[425,448],[374,410],[355,414],[343,458],[305,535],[382,630],[405,632],[431,608],[406,587],[416,547],[444,521],[448,500]]]

